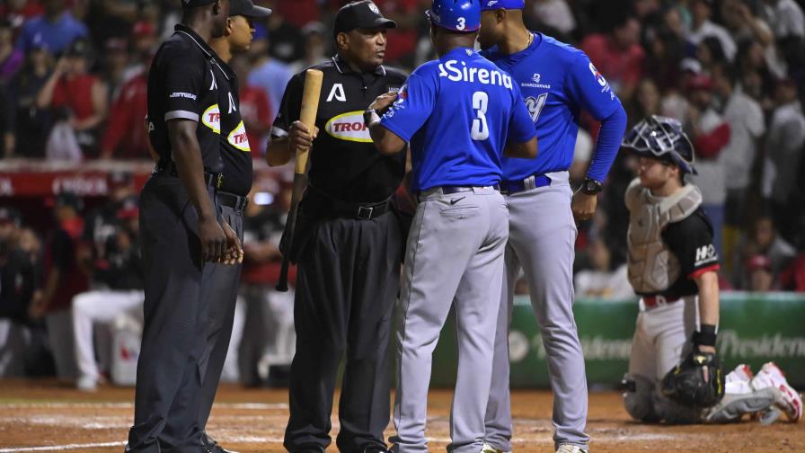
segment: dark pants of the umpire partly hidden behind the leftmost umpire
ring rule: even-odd
[[[221,204],[221,219],[232,227],[243,244],[243,211]],[[209,315],[207,321],[207,347],[201,356],[201,403],[199,406],[199,427],[206,430],[209,413],[216,399],[218,382],[229,351],[234,324],[234,306],[241,279],[242,264],[225,266],[215,264],[210,279],[212,285],[206,293]]]

